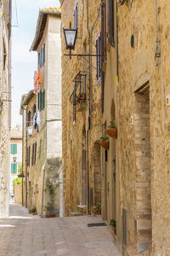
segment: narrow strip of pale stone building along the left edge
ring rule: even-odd
[[[11,1],[0,1],[0,218],[8,217],[11,99]]]

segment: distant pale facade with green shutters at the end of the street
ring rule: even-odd
[[[22,130],[20,125],[11,129],[10,135],[10,194],[14,195],[14,178],[22,172]],[[21,197],[21,195],[20,195]]]

